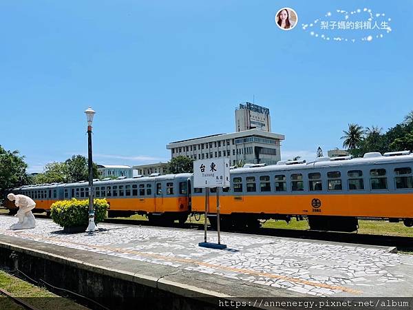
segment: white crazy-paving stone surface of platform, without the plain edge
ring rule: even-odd
[[[203,231],[100,224],[96,234],[63,234],[59,225],[39,219],[34,229],[8,230],[16,221],[0,216],[0,235],[215,274],[309,296],[334,296],[403,282],[403,275],[389,269],[401,264],[413,266],[413,256],[402,262],[399,254],[384,249],[337,243],[224,233],[222,243],[229,249],[217,250],[198,247]],[[216,242],[216,232],[209,232],[209,242]]]

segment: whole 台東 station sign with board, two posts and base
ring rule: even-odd
[[[225,249],[226,245],[221,245],[220,234],[220,191],[218,187],[229,187],[229,158],[210,158],[193,162],[193,187],[205,189],[205,222],[204,222],[204,242],[200,242],[200,247],[211,247],[213,249]],[[209,209],[209,189],[217,187],[217,230],[218,245],[207,242],[207,218]]]

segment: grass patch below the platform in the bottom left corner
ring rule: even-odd
[[[25,298],[30,298],[30,300],[25,301],[39,309],[87,309],[79,304],[76,304],[70,299],[57,296],[54,293],[50,293],[50,291],[47,291],[46,289],[31,285],[30,283],[11,276],[4,271],[0,271],[0,287],[1,289],[8,291],[14,297],[22,298],[24,300]],[[4,301],[11,304],[10,309],[21,309],[18,305],[17,308],[13,308],[12,305],[14,302],[10,300],[10,298],[6,298]],[[3,302],[2,299],[1,302]],[[6,309],[8,308],[6,307]]]

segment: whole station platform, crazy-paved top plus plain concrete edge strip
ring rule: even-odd
[[[8,230],[16,221],[0,216],[0,248],[182,296],[413,296],[413,256],[388,247],[224,232],[227,248],[207,249],[198,230],[99,224],[94,234],[63,234],[40,219],[34,229]]]

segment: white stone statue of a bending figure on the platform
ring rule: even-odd
[[[34,220],[34,215],[32,214],[32,209],[36,207],[36,203],[34,200],[28,196],[24,195],[14,195],[12,193],[7,195],[8,200],[14,201],[14,205],[19,207],[19,211],[17,211],[17,216],[19,218],[19,222],[10,226],[10,229],[29,229],[36,227],[36,222]]]

